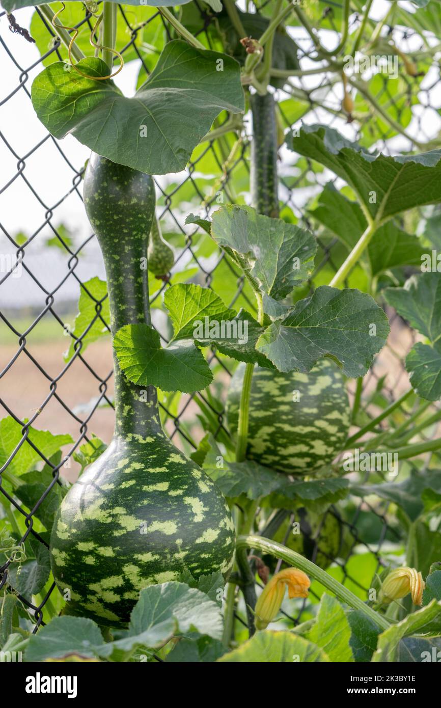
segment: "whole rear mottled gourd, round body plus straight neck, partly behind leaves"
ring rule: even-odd
[[[274,96],[250,96],[253,117],[251,199],[261,214],[279,215],[277,120]],[[245,365],[239,364],[227,395],[227,420],[234,435]],[[349,428],[343,375],[329,359],[309,373],[254,367],[248,413],[246,457],[287,474],[310,475],[332,462]]]

